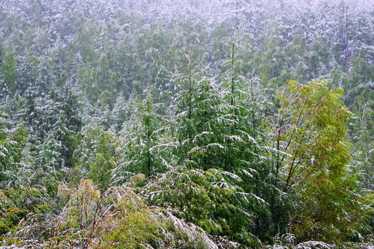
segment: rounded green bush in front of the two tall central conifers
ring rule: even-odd
[[[195,223],[209,234],[229,236],[257,248],[260,241],[251,228],[266,203],[244,192],[241,182],[230,172],[177,167],[148,185],[148,201],[169,208],[180,219]]]

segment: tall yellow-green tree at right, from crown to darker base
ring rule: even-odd
[[[344,140],[351,113],[341,101],[343,90],[330,89],[328,83],[292,81],[278,96],[276,174],[298,204],[291,228],[300,240],[336,241],[350,222],[344,212],[355,208],[350,205],[354,185],[346,174],[350,156]]]

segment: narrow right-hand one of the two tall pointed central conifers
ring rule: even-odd
[[[253,95],[253,82],[240,75],[240,61],[235,56],[235,44],[231,46],[231,58],[225,65],[229,68],[222,82],[222,120],[224,131],[224,167],[228,171],[248,168],[261,160],[260,136],[257,129],[258,117],[255,115],[256,102]]]

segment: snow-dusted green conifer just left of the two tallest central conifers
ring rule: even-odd
[[[165,172],[170,160],[170,145],[165,145],[167,127],[165,118],[159,114],[161,104],[153,103],[151,91],[145,91],[144,100],[134,102],[134,112],[123,124],[121,131],[121,163],[114,169],[114,183],[123,183],[132,174],[151,176]]]

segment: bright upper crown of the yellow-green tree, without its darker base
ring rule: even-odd
[[[302,185],[314,172],[340,178],[349,161],[344,136],[351,113],[341,103],[342,89],[328,82],[290,82],[280,95],[276,125],[277,169],[285,190]]]

